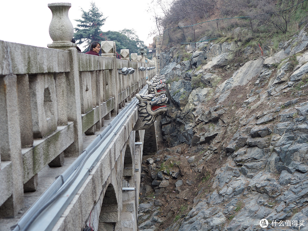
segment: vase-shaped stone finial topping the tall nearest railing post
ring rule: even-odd
[[[48,8],[52,12],[49,35],[53,43],[71,43],[74,36],[74,27],[68,18],[71,3],[49,3]]]

